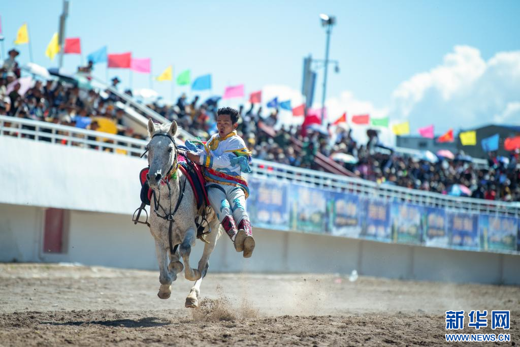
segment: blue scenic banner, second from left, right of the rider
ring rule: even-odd
[[[329,224],[329,192],[297,184],[291,184],[290,189],[290,228],[302,232],[326,233]]]

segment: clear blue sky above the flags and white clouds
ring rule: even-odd
[[[44,54],[58,29],[59,0],[9,2],[0,9],[5,48],[16,31],[29,24],[34,60],[57,65]],[[323,58],[323,12],[337,18],[330,57],[341,72],[329,74],[327,94],[345,91],[374,108],[387,108],[396,88],[415,74],[443,63],[457,45],[478,49],[484,61],[499,52],[518,51],[518,1],[80,1],[72,0],[68,37],[79,36],[86,54],[108,45],[109,53],[133,52],[152,58],[154,74],[168,64],[174,73],[191,69],[192,76],[213,74],[213,93],[226,85],[244,83],[246,93],[265,85],[299,91],[302,59]],[[18,47],[27,62],[27,45]],[[65,57],[75,70],[78,56]],[[331,71],[331,70],[329,70]],[[96,67],[105,78],[105,68]],[[128,83],[128,72],[111,69]],[[315,100],[321,100],[322,74]],[[148,75],[133,74],[134,88],[149,87]],[[154,87],[169,98],[167,83]],[[175,94],[188,91],[175,88]],[[392,114],[392,113],[391,113]],[[432,117],[432,116],[430,116]]]

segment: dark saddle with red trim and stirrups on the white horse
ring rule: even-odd
[[[193,190],[193,194],[195,195],[195,200],[197,202],[197,209],[200,210],[204,204],[206,207],[210,206],[210,201],[207,199],[207,192],[206,192],[206,187],[205,187],[206,181],[204,179],[204,175],[202,172],[202,170],[203,170],[202,166],[199,164],[193,163],[192,161],[186,160],[186,158],[184,158],[183,156],[179,156],[178,161],[179,161],[179,170],[183,172],[184,176],[188,180],[188,182]],[[141,183],[140,198],[141,198],[142,204],[141,204],[141,207],[138,209],[139,213],[137,215],[137,218],[135,218],[135,212],[134,212],[134,218],[133,218],[134,224],[142,223],[142,224],[146,224],[146,225],[150,226],[150,224],[148,224],[148,214],[147,214],[147,221],[145,223],[139,222],[140,210],[144,210],[146,212],[144,207],[145,207],[145,205],[150,205],[150,201],[152,198],[153,190],[148,185],[148,179],[146,178],[146,175],[148,174],[149,170],[150,170],[150,168],[146,167],[146,168],[142,169],[141,172],[139,173],[139,182]],[[137,210],[136,210],[136,212],[137,212]],[[197,219],[195,221],[195,224],[197,225],[197,237],[200,238],[201,240],[203,240],[204,242],[207,242],[204,239],[204,234],[209,233],[209,231],[204,232],[205,227],[202,224],[203,222],[206,222],[206,225],[208,225],[207,220],[206,220],[206,215],[207,215],[207,208],[203,209],[202,215],[198,215]],[[208,230],[209,230],[209,228],[208,228]]]

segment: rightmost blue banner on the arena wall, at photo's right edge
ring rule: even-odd
[[[516,250],[518,237],[517,219],[483,214],[478,218],[478,228],[482,249]]]

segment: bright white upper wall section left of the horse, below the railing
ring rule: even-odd
[[[144,159],[0,136],[0,203],[131,213]]]

